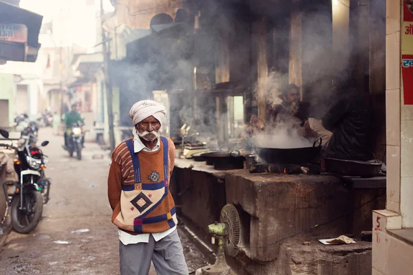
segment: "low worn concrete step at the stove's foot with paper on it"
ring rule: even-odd
[[[328,274],[370,275],[372,243],[357,241],[351,245],[323,245],[316,240],[290,239],[281,245],[276,261],[260,264],[245,255],[226,257],[238,275]]]

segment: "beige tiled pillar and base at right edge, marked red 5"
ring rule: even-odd
[[[413,106],[412,76],[403,61],[413,51],[410,1],[386,5],[387,203],[373,214],[373,275],[413,270]],[[407,58],[405,57],[407,54]]]

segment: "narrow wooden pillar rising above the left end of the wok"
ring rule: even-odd
[[[268,36],[267,19],[260,17],[253,22],[253,34],[255,39],[255,52],[257,60],[257,87],[256,98],[258,117],[266,120],[266,96],[268,94]]]

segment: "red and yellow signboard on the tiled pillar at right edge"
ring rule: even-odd
[[[405,105],[413,105],[413,0],[403,1],[401,75]]]

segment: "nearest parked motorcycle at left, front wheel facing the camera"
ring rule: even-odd
[[[0,134],[8,138],[9,133],[0,129]],[[47,146],[48,141],[41,146]],[[32,144],[17,148],[12,144],[0,144],[1,147],[14,150],[14,170],[20,181],[3,182],[3,188],[8,199],[8,207],[12,217],[12,227],[21,234],[28,234],[39,223],[43,212],[43,204],[50,199],[51,181],[45,177],[48,163],[46,155],[39,147]]]

